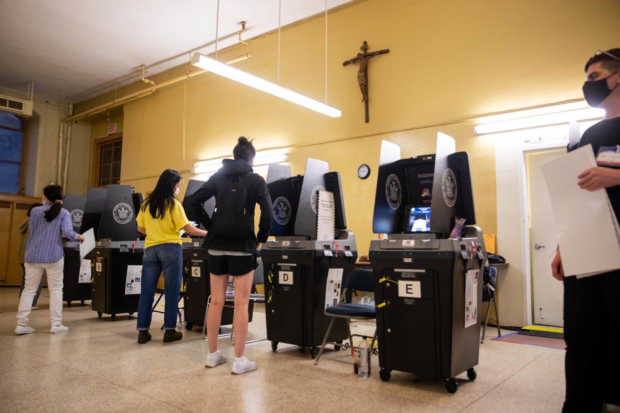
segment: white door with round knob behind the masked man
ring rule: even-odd
[[[542,179],[541,165],[566,153],[549,149],[525,154],[528,182],[529,248],[534,324],[564,325],[564,287],[551,275],[551,261],[557,246],[551,202]]]

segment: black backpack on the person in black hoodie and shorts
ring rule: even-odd
[[[254,232],[250,214],[246,211],[246,198],[247,188],[241,176],[232,175],[218,188],[210,230],[229,240],[247,238]]]

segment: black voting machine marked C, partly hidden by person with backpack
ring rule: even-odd
[[[192,224],[200,225],[201,229],[205,229],[199,224],[198,217],[195,215],[190,200],[205,182],[199,180],[189,180],[185,196],[183,198],[183,209],[187,219]],[[215,197],[208,199],[204,204],[205,212],[211,217],[215,209]],[[184,237],[190,237],[184,234]],[[211,295],[211,285],[208,271],[208,252],[203,246],[201,238],[192,238],[190,242],[183,243],[183,306],[185,314],[185,329],[191,330],[193,326],[203,325],[205,321],[206,299]],[[249,303],[249,321],[252,321],[252,310],[254,302]],[[232,324],[234,316],[233,306],[226,305],[222,310],[222,326]]]

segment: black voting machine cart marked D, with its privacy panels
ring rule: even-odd
[[[310,347],[314,359],[330,322],[324,315],[328,277],[336,279],[333,284],[340,292],[357,258],[355,237],[346,230],[340,174],[329,172],[327,162],[311,158],[303,176],[291,176],[290,167],[271,164],[267,187],[273,202],[271,235],[275,236],[260,251],[267,339],[273,350],[280,342]],[[322,240],[317,240],[319,190],[334,194],[335,207],[335,237]],[[348,338],[347,323],[337,321],[329,341],[342,342]]]

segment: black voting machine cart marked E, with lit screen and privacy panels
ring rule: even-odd
[[[430,232],[412,232],[414,211],[430,206]],[[438,134],[434,155],[401,159],[400,148],[383,141],[377,177],[372,240],[379,376],[392,370],[445,380],[467,372],[476,379],[486,252],[482,231],[463,227],[448,239],[454,217],[475,224],[466,152]]]

